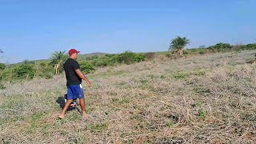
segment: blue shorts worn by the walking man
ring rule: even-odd
[[[67,86],[67,96],[66,99],[82,99],[85,98],[82,90],[82,85],[72,85]]]

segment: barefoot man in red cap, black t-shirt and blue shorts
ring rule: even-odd
[[[67,86],[67,96],[66,103],[62,110],[62,114],[58,116],[58,118],[64,118],[66,114],[66,110],[69,108],[70,104],[74,101],[74,99],[79,98],[79,105],[82,109],[83,116],[86,116],[86,102],[84,93],[82,90],[82,79],[86,81],[87,86],[90,87],[90,81],[86,78],[86,76],[80,70],[80,66],[76,59],[78,58],[78,53],[80,51],[71,49],[69,51],[70,58],[66,60],[64,63],[64,70],[66,74],[66,86]]]

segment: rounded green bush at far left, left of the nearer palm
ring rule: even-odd
[[[22,64],[14,68],[14,78],[34,78],[36,70],[32,64]]]

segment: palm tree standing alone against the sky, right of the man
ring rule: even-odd
[[[183,51],[185,50],[185,46],[190,44],[190,40],[186,37],[177,37],[171,40],[169,50],[174,50],[174,53],[183,55]]]

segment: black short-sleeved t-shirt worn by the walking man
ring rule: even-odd
[[[66,86],[79,85],[82,82],[82,78],[78,76],[75,70],[80,69],[77,61],[72,58],[68,58],[64,63],[64,70],[66,74]]]

